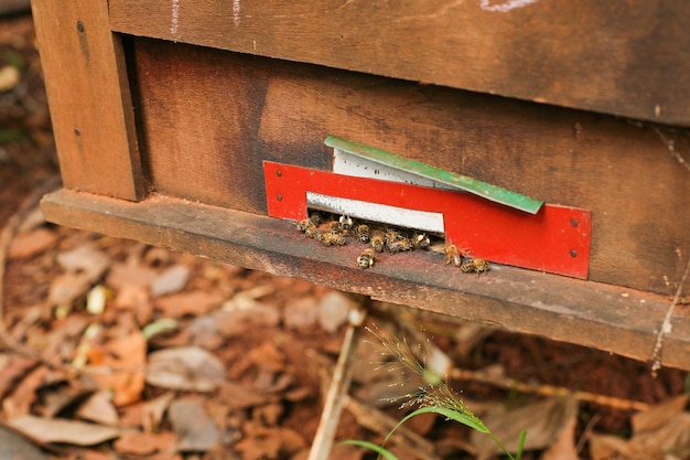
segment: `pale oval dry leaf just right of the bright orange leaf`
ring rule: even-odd
[[[225,382],[225,366],[196,346],[164,349],[149,355],[147,383],[190,392],[212,392]]]

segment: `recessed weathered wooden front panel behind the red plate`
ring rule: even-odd
[[[328,169],[323,140],[337,135],[592,211],[595,281],[669,293],[690,254],[690,170],[659,136],[687,158],[687,132],[197,46],[134,44],[144,162],[163,193],[265,214],[261,161]]]

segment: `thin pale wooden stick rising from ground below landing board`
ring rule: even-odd
[[[369,302],[370,300],[366,299],[349,311],[347,331],[343,339],[337,363],[333,370],[333,378],[326,393],[321,420],[319,421],[319,428],[316,429],[308,460],[326,460],[331,453],[337,424],[341,419],[341,411],[349,391],[353,376],[352,364],[362,338],[367,312],[366,306]]]

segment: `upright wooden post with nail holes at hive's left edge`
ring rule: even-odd
[[[138,200],[134,116],[108,2],[36,0],[32,9],[65,185]]]

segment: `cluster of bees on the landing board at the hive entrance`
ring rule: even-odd
[[[380,224],[355,222],[348,216],[337,216],[319,211],[310,213],[309,218],[298,222],[298,231],[313,238],[324,246],[343,246],[348,239],[367,245],[357,257],[357,267],[371,268],[376,254],[390,254],[414,249],[429,249],[432,237],[425,233],[386,227]],[[452,265],[464,274],[483,274],[489,270],[489,264],[472,257],[466,248],[460,248],[453,243],[443,247],[445,265]]]

